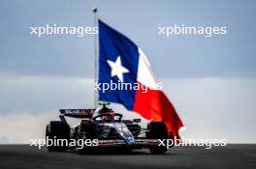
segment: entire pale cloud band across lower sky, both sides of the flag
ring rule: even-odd
[[[92,84],[89,78],[0,76],[0,141],[44,138],[45,127],[57,119],[59,108],[93,106]],[[185,138],[225,138],[237,143],[256,142],[255,86],[254,78],[163,80],[164,92],[187,128],[182,132]],[[125,118],[140,117],[121,105],[112,104],[112,108]]]

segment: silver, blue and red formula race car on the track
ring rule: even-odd
[[[97,109],[60,109],[60,121],[49,122],[46,129],[47,139],[93,140],[92,146],[62,144],[47,145],[48,151],[78,150],[79,153],[90,153],[95,149],[122,148],[133,150],[148,148],[152,154],[164,154],[166,146],[159,146],[158,139],[168,139],[170,134],[163,122],[149,122],[147,127],[139,125],[141,119],[123,120],[122,114],[115,113],[107,107],[109,103],[101,103]],[[65,117],[80,118],[80,124],[70,127]]]

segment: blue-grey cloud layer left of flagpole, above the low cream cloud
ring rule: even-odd
[[[0,115],[92,106],[93,82],[89,78],[0,77],[0,85],[0,102],[4,105],[0,106]]]

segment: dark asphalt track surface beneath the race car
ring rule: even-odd
[[[206,150],[202,147],[176,147],[166,155],[148,151],[97,153],[48,153],[28,145],[0,145],[0,169],[161,169],[234,168],[256,169],[256,145],[228,145]]]

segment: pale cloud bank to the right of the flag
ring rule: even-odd
[[[190,138],[255,143],[256,79],[191,78],[164,81]]]

